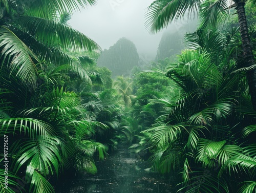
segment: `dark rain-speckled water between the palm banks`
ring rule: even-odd
[[[149,171],[147,162],[126,148],[96,165],[96,175],[63,180],[56,193],[172,193],[172,179]]]

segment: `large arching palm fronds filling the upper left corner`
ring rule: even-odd
[[[95,0],[69,1],[1,1],[0,27],[1,63],[9,74],[16,69],[20,77],[34,88],[39,71],[46,68],[42,61],[53,65],[69,65],[83,78],[88,78],[82,62],[92,62],[88,56],[74,57],[73,51],[94,52],[98,45],[86,35],[66,25],[79,7],[95,4]],[[65,33],[63,33],[65,32]]]

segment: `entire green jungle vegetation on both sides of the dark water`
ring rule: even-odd
[[[256,2],[233,1],[239,15],[227,18],[236,12],[228,1],[155,1],[146,15],[153,32],[186,10],[198,10],[199,25],[186,49],[144,71],[133,68],[139,56],[129,40],[100,56],[68,26],[69,13],[95,2],[0,0],[0,136],[9,161],[0,192],[54,192],[61,176],[96,174],[95,159],[121,144],[152,171],[176,176],[170,191],[255,192]],[[110,70],[95,62],[107,52],[126,67],[115,79],[111,55]]]

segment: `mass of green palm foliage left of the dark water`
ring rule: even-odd
[[[88,71],[98,45],[67,23],[69,13],[95,2],[1,1],[0,135],[8,136],[10,163],[1,192],[54,192],[59,175],[95,174],[95,155],[102,160],[108,151],[94,136],[109,126],[71,87],[74,79],[102,83]]]

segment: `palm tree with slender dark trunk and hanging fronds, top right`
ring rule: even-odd
[[[229,5],[229,2],[234,4]],[[256,110],[256,69],[253,66],[255,63],[245,16],[244,6],[246,2],[251,2],[252,5],[255,5],[256,3],[255,0],[156,0],[150,7],[148,7],[148,12],[146,14],[146,27],[150,28],[152,32],[157,32],[166,27],[170,22],[184,16],[187,11],[189,14],[195,14],[195,12],[199,13],[199,19],[202,21],[201,27],[208,31],[209,26],[216,26],[225,18],[229,8],[236,8],[242,38],[244,67],[247,70],[251,101],[254,110]]]

